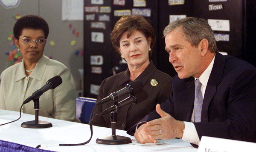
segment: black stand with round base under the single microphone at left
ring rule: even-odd
[[[23,128],[48,128],[52,127],[52,123],[38,120],[39,114],[39,97],[34,99],[34,109],[35,109],[35,120],[26,121],[21,123],[21,127]]]

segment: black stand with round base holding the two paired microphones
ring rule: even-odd
[[[96,143],[105,145],[121,145],[131,143],[131,138],[116,135],[116,111],[111,112],[112,135],[97,138]]]

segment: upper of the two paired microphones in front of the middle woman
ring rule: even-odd
[[[131,83],[126,84],[126,86],[123,89],[117,92],[113,92],[108,97],[105,97],[102,100],[99,100],[99,102],[97,102],[96,105],[101,105],[108,101],[116,100],[119,97],[122,97],[123,95],[128,95],[128,94],[132,95],[142,89],[143,89],[143,83],[141,80],[133,81]]]

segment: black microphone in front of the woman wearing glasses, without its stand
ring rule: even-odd
[[[55,77],[52,77],[51,79],[49,79],[47,81],[47,83],[41,87],[40,89],[38,89],[37,91],[35,91],[34,93],[32,93],[31,96],[29,96],[29,98],[27,98],[23,104],[28,103],[31,100],[34,100],[36,98],[39,98],[41,95],[43,95],[44,92],[46,92],[49,89],[55,89],[58,85],[60,85],[62,83],[62,79],[60,76],[56,75]]]

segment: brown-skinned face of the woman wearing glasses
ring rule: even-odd
[[[44,52],[46,40],[41,29],[23,29],[19,40],[14,39],[14,43],[20,49],[24,61],[37,62]]]

